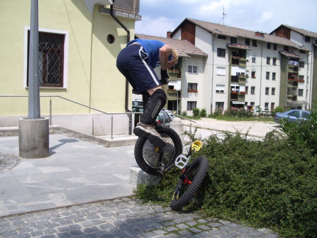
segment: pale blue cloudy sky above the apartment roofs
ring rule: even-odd
[[[140,0],[135,33],[166,37],[185,18],[264,33],[281,24],[317,33],[316,12],[317,0]]]

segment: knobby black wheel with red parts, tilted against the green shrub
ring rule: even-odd
[[[204,179],[208,169],[208,160],[203,156],[198,156],[185,169],[181,179],[175,188],[170,206],[173,210],[180,210],[194,198],[202,179]]]

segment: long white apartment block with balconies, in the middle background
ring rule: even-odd
[[[316,76],[312,76],[311,84],[305,80],[310,74],[307,68],[312,57],[312,49],[307,45],[274,34],[187,18],[170,37],[188,40],[208,55],[203,62],[189,65],[195,68],[186,69],[188,74],[201,74],[198,81],[187,82],[187,87],[188,83],[195,83],[200,90],[190,103],[182,95],[180,111],[190,112],[191,105],[206,109],[208,114],[218,108],[248,105],[266,111],[277,106],[311,108],[315,95],[311,85],[316,85]],[[313,36],[312,39],[316,40]]]

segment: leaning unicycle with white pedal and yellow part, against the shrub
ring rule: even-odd
[[[206,175],[208,160],[205,157],[198,156],[189,163],[192,152],[198,151],[200,147],[201,142],[196,140],[191,145],[186,157],[179,155],[175,160],[175,165],[182,170],[182,173],[179,176],[178,184],[171,198],[170,206],[172,210],[180,210],[194,198],[195,193]]]

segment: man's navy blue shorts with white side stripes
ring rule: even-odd
[[[117,68],[140,94],[161,85],[154,69],[148,64],[148,55],[139,44],[131,44],[120,51]]]

